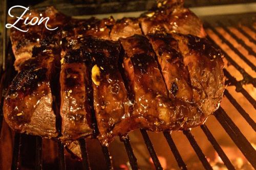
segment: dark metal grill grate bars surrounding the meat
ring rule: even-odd
[[[231,20],[232,22],[232,20]],[[252,23],[252,22],[251,22]],[[249,47],[248,45],[246,45],[246,43],[240,39],[239,37],[237,37],[236,34],[232,33],[228,26],[225,25],[223,22],[217,22],[218,27],[223,28],[233,39],[237,40],[237,42],[242,45],[250,55],[256,56],[255,52],[253,51],[253,49],[251,47]],[[226,45],[228,45],[228,47],[234,52],[236,53],[247,65],[250,66],[250,68],[252,70],[256,70],[255,69],[255,65],[249,61],[244,54],[242,54],[235,46],[233,46],[232,43],[229,42],[228,39],[226,39],[217,29],[216,26],[213,26],[212,23],[208,23],[205,22],[205,26],[206,29],[211,32],[213,32],[216,36],[218,36]],[[241,25],[234,25],[233,27],[235,27],[241,34],[243,34],[245,37],[248,38],[248,40],[252,43],[255,44],[255,37],[251,37],[251,35],[249,35],[242,27]],[[246,26],[248,29],[250,29],[254,35],[256,34],[256,30],[253,26],[248,25]],[[217,47],[221,48],[220,46],[218,46],[215,43],[215,40],[212,39],[210,36],[207,36],[207,38],[214,43]],[[6,37],[4,36],[4,42],[6,41]],[[4,46],[5,48],[5,46]],[[8,46],[8,54],[12,55],[12,51],[11,51],[11,46],[9,44]],[[228,86],[235,86],[236,87],[236,91],[240,92],[241,94],[243,94],[243,96],[249,101],[249,103],[256,108],[256,102],[255,100],[252,98],[252,96],[245,90],[245,88],[243,87],[243,84],[251,84],[255,87],[255,78],[252,78],[246,71],[244,68],[242,68],[236,61],[234,61],[227,52],[223,51],[223,54],[225,55],[226,60],[228,60],[228,62],[234,66],[243,76],[243,80],[241,81],[237,81],[236,78],[232,77],[230,72],[227,69],[224,69],[224,74],[227,78],[227,85]],[[13,58],[13,57],[11,57]],[[8,63],[12,63],[12,61],[7,61]],[[1,78],[1,82],[10,82],[11,77],[8,78],[7,75],[10,74],[10,71],[13,70],[11,67],[11,64],[7,64],[7,69],[4,72],[4,74],[2,75]],[[13,74],[11,74],[13,75]],[[9,80],[8,80],[9,79]],[[6,84],[7,85],[7,84]],[[4,86],[6,87],[6,86]],[[1,87],[2,91],[3,88]],[[249,116],[249,114],[245,111],[245,109],[236,101],[236,99],[233,98],[233,96],[230,94],[230,92],[228,90],[225,90],[224,95],[226,96],[226,98],[230,101],[230,103],[234,106],[234,108],[236,108],[238,110],[238,112],[244,117],[244,119],[246,120],[246,122],[252,127],[252,129],[254,131],[256,131],[256,124],[253,121],[253,119]],[[1,103],[1,109],[2,109],[2,105],[3,105],[3,100]],[[250,144],[250,142],[245,138],[245,136],[242,134],[242,132],[240,131],[240,129],[233,123],[232,119],[227,115],[227,113],[224,111],[223,108],[219,108],[215,113],[214,116],[216,117],[216,119],[218,120],[218,122],[221,124],[221,126],[223,127],[223,129],[226,131],[226,133],[230,136],[230,138],[233,140],[233,142],[237,145],[237,147],[239,148],[239,150],[243,153],[243,155],[245,156],[245,158],[250,162],[250,164],[256,168],[256,151],[255,149],[252,147],[252,145]],[[3,112],[1,110],[1,116],[0,116],[0,128],[2,127],[2,120],[3,120]],[[227,155],[224,153],[224,151],[222,150],[222,148],[220,147],[219,143],[217,142],[217,140],[215,139],[214,135],[212,135],[212,133],[209,131],[209,129],[207,128],[206,125],[202,125],[201,126],[202,131],[204,132],[205,136],[207,137],[207,139],[209,140],[209,142],[211,143],[212,147],[216,150],[216,152],[218,153],[218,155],[220,156],[220,158],[222,159],[222,161],[224,162],[224,164],[226,165],[226,167],[228,169],[235,169],[234,166],[232,165],[231,161],[228,159]],[[146,148],[148,150],[148,152],[150,153],[150,156],[152,157],[152,160],[154,162],[154,165],[156,167],[156,169],[163,169],[159,159],[157,157],[157,154],[154,150],[153,144],[150,140],[150,137],[148,136],[146,130],[141,129],[140,130],[142,137],[144,139]],[[212,169],[210,163],[208,162],[208,160],[206,159],[204,153],[202,152],[202,149],[199,147],[195,137],[193,136],[193,134],[191,133],[191,131],[184,131],[183,132],[184,135],[186,136],[186,138],[188,139],[191,147],[193,147],[195,153],[197,154],[197,156],[199,157],[199,160],[201,161],[201,163],[203,164],[205,169]],[[166,138],[166,141],[169,145],[170,150],[172,151],[178,166],[181,169],[187,169],[187,165],[186,163],[183,161],[179,150],[176,147],[176,144],[172,138],[172,134],[170,134],[170,132],[163,132],[164,137]],[[15,138],[14,138],[14,145],[13,145],[13,156],[12,156],[12,166],[11,169],[19,169],[20,168],[20,149],[22,148],[22,138],[24,137],[24,134],[15,134]],[[36,136],[36,156],[35,156],[35,169],[42,169],[42,139],[41,137]],[[127,152],[127,156],[129,157],[130,160],[130,165],[132,169],[139,169],[138,163],[137,163],[137,159],[134,155],[133,152],[133,148],[131,146],[130,143],[130,138],[129,136],[125,136],[125,137],[121,137],[120,141],[123,142],[124,147],[126,149]],[[86,140],[84,139],[80,139],[79,140],[80,143],[80,150],[82,153],[82,166],[83,169],[90,169],[90,162],[89,162],[89,156],[88,156],[88,151],[87,151],[87,143]],[[65,154],[64,154],[64,146],[63,144],[58,141],[57,142],[58,145],[58,167],[59,169],[66,169],[66,160],[65,160]],[[102,147],[102,152],[105,158],[105,162],[106,162],[106,166],[108,167],[108,169],[113,169],[113,165],[112,165],[112,158],[110,156],[109,153],[109,149],[107,147]]]

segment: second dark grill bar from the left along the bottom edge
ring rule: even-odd
[[[36,153],[35,153],[35,169],[42,169],[42,138],[40,136],[35,137]]]

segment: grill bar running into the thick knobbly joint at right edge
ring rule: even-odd
[[[207,39],[212,42],[216,47],[221,48],[219,45],[215,43],[215,41],[207,36]],[[255,79],[253,79],[241,66],[237,64],[236,61],[234,61],[225,51],[222,50],[222,53],[224,54],[225,58],[228,60],[230,64],[232,64],[242,75],[243,75],[243,83],[251,83],[254,87],[256,87]],[[225,75],[226,76],[226,75]],[[236,79],[234,79],[233,82],[237,82]],[[234,83],[236,84],[236,83]]]

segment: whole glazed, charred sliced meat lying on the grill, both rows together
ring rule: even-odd
[[[82,137],[108,145],[137,128],[202,125],[222,100],[223,55],[183,1],[157,6],[119,20],[73,19],[49,7],[43,13],[58,30],[11,30],[18,74],[4,99],[9,126],[72,150]]]

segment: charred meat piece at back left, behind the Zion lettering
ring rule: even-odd
[[[44,17],[50,17],[50,20],[47,22],[47,26],[52,29],[58,27],[58,29],[54,31],[46,29],[44,26],[46,20],[42,22],[41,25],[34,26],[24,25],[22,22],[23,20],[19,20],[19,22],[16,23],[15,26],[18,28],[22,28],[23,30],[28,29],[28,32],[22,32],[16,30],[15,28],[11,28],[10,38],[13,54],[16,59],[14,62],[14,67],[16,70],[19,70],[20,64],[32,57],[32,48],[34,46],[40,46],[41,40],[50,36],[53,37],[54,35],[56,35],[55,38],[59,37],[59,30],[62,29],[63,23],[66,23],[69,19],[69,17],[58,12],[54,7],[47,7],[45,11],[31,10],[30,14],[27,13],[26,15],[24,15],[23,19],[28,16],[30,19],[33,17],[40,18],[40,15]],[[28,19],[27,22],[29,22],[30,19]],[[10,22],[13,23],[13,21]],[[60,37],[58,41],[60,41]]]

